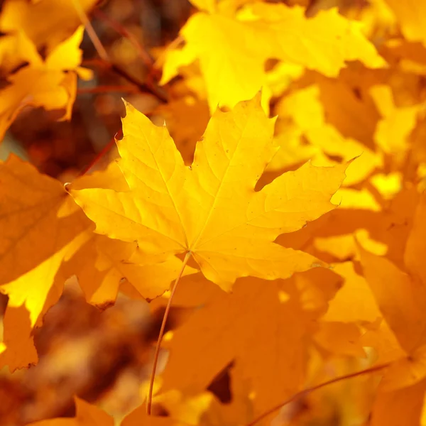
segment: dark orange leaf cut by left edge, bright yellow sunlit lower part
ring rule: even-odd
[[[0,291],[9,295],[10,307],[27,307],[34,326],[87,220],[70,208],[60,182],[14,155],[0,163],[0,176]]]

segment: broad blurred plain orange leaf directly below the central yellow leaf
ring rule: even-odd
[[[195,310],[165,343],[170,356],[162,376],[163,391],[176,386],[188,393],[202,391],[235,361],[253,392],[254,415],[285,400],[302,386],[307,351],[317,331],[315,320],[322,315],[322,304],[304,306],[310,297],[308,287],[329,283],[335,290],[339,281],[332,271],[315,268],[267,284],[241,278],[233,293],[226,294],[214,291],[197,275],[182,280],[175,305],[201,302],[202,309]]]

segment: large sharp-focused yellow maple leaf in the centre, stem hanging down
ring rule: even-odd
[[[334,208],[329,198],[346,165],[307,163],[255,192],[277,149],[274,120],[263,113],[259,97],[214,114],[190,167],[165,127],[129,104],[126,109],[117,145],[131,191],[70,191],[97,233],[137,240],[147,263],[191,253],[204,275],[226,290],[240,276],[272,280],[315,266],[307,253],[272,241]]]

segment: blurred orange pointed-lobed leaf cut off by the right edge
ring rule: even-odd
[[[386,391],[413,386],[426,377],[426,321],[422,315],[426,307],[422,258],[426,236],[425,200],[425,195],[422,195],[405,246],[404,260],[409,273],[386,257],[360,249],[364,275],[378,307],[407,354],[394,362],[383,378],[382,388]]]

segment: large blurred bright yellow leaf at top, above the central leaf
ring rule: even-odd
[[[386,65],[362,35],[359,23],[339,15],[337,9],[320,11],[313,18],[304,13],[300,6],[261,2],[247,6],[236,18],[195,13],[180,32],[186,45],[166,53],[160,83],[170,81],[180,67],[198,59],[214,111],[219,102],[234,107],[267,87],[264,64],[268,58],[327,76],[337,76],[347,60],[361,60],[370,67]]]

